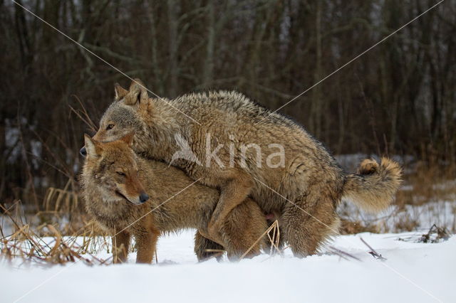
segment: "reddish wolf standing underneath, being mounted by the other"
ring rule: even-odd
[[[130,147],[132,139],[128,135],[101,143],[85,136],[83,198],[87,212],[113,235],[114,262],[127,260],[133,235],[138,248],[136,261],[150,263],[159,235],[182,228],[199,230],[195,236],[198,260],[211,255],[207,248],[227,250],[230,260],[244,252],[247,257],[259,254],[264,245],[259,239],[267,224],[257,203],[246,198],[233,209],[222,225],[220,243],[204,238],[201,233],[207,233],[219,191],[192,185],[194,181],[180,169],[137,156]]]

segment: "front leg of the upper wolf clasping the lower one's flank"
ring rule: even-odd
[[[220,228],[233,208],[247,198],[254,186],[254,181],[247,172],[231,169],[222,174],[217,183],[220,187],[220,198],[207,225],[207,231],[212,239],[223,243]]]

